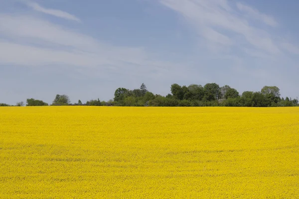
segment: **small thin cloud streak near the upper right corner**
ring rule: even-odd
[[[237,7],[239,8],[239,10],[247,12],[250,17],[253,17],[257,20],[261,20],[262,22],[264,22],[267,25],[276,27],[278,26],[278,22],[271,16],[267,15],[267,14],[263,14],[260,13],[257,9],[254,9],[248,5],[244,5],[240,2],[237,2]]]

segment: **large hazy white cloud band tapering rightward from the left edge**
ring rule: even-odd
[[[0,64],[87,67],[152,77],[180,70],[179,64],[157,60],[144,48],[103,43],[31,16],[0,14],[0,38]]]

